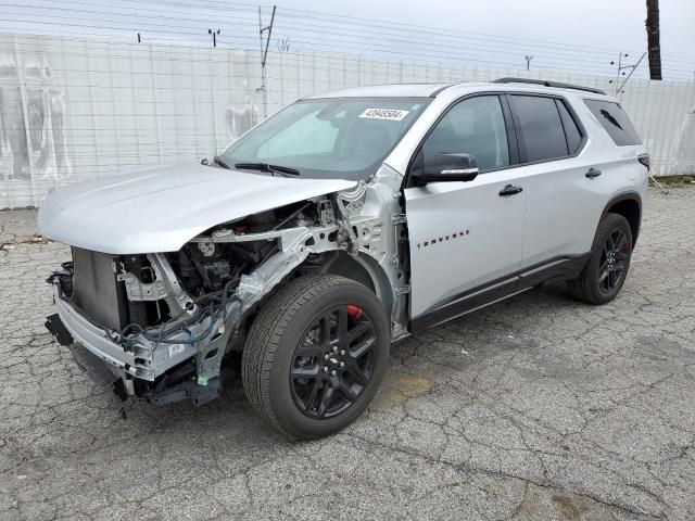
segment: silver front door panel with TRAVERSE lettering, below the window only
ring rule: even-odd
[[[508,183],[525,191],[501,198],[497,192]],[[522,169],[509,168],[469,182],[432,182],[405,190],[413,318],[519,269],[526,186]]]

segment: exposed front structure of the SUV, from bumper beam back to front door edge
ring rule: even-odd
[[[361,182],[220,224],[177,252],[73,247],[73,262],[49,278],[59,314],[47,326],[91,376],[123,398],[155,405],[218,397],[223,363],[233,369],[263,298],[311,272],[371,288],[391,314],[393,338],[406,335],[407,238],[393,193]]]

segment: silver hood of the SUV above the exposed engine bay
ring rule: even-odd
[[[175,252],[215,225],[354,187],[200,163],[143,168],[59,190],[39,209],[54,241],[103,253]]]

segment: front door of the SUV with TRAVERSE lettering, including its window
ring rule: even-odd
[[[523,245],[523,167],[510,147],[497,96],[467,98],[437,124],[419,153],[468,153],[480,169],[469,182],[405,189],[413,319],[477,295],[514,291]],[[489,291],[490,290],[490,291]],[[478,301],[480,302],[480,301]]]

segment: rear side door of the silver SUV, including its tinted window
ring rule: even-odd
[[[586,132],[561,97],[509,94],[526,164],[527,228],[522,267],[571,259],[589,252],[601,215],[601,164],[584,153]]]

